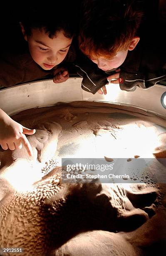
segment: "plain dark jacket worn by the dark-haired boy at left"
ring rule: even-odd
[[[74,53],[71,49],[60,64],[68,64],[74,61]],[[0,56],[0,88],[10,87],[16,84],[30,82],[37,79],[45,79],[48,75],[53,77],[55,70],[42,69],[31,57],[28,50],[20,54],[8,52]]]

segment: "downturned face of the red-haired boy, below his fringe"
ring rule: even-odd
[[[95,58],[95,56],[91,57],[91,60],[97,64],[99,69],[104,71],[116,69],[121,66],[121,64],[125,61],[127,56],[128,50],[118,51],[116,56],[112,59],[105,59],[105,58]]]

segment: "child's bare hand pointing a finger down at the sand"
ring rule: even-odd
[[[28,154],[33,155],[32,148],[25,134],[34,134],[35,129],[30,130],[10,118],[3,110],[0,109],[0,145],[4,150],[8,148],[14,150],[21,149],[25,146]]]

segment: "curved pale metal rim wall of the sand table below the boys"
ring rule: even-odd
[[[56,105],[58,102],[99,101],[110,104],[132,106],[166,118],[161,105],[161,96],[166,87],[156,84],[147,90],[137,88],[134,92],[122,91],[118,84],[107,85],[107,95],[92,95],[81,88],[82,78],[72,77],[55,84],[52,79],[20,84],[0,90],[0,108],[8,115],[30,108]]]

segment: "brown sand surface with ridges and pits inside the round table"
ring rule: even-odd
[[[164,248],[165,120],[101,102],[25,110],[13,119],[36,129],[27,137],[34,155],[0,151],[0,255],[17,255],[4,247],[27,256],[133,256]],[[109,164],[122,158],[130,177],[64,183],[64,157]]]

